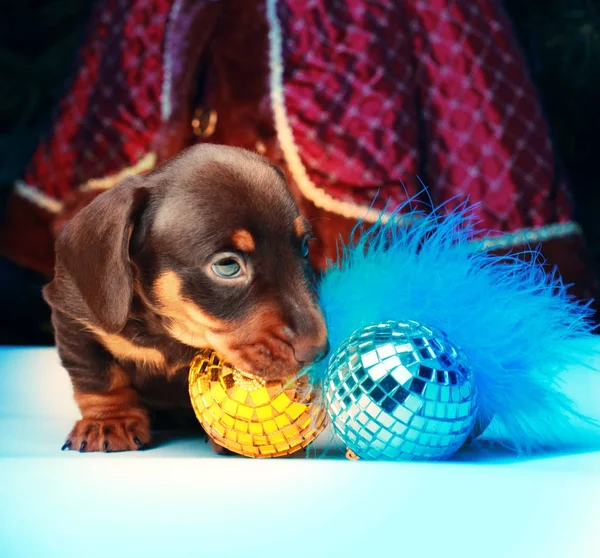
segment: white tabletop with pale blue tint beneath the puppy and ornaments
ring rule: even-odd
[[[566,375],[600,418],[600,362]],[[217,457],[182,438],[61,452],[77,417],[53,350],[0,350],[0,558],[600,557],[600,433],[516,459],[450,463]],[[565,447],[566,447],[565,446]]]

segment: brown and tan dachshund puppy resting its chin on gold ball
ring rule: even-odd
[[[190,148],[80,211],[44,290],[82,414],[63,449],[147,444],[149,412],[190,409],[199,348],[265,378],[323,356],[309,238],[281,171],[230,147]]]

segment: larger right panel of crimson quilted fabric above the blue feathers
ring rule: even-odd
[[[393,207],[419,175],[436,204],[480,203],[486,229],[570,219],[499,2],[280,0],[277,15],[287,114],[318,188],[364,206],[381,188],[376,205]]]

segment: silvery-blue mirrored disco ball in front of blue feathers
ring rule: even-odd
[[[360,459],[445,459],[477,417],[465,354],[443,332],[409,320],[365,327],[342,343],[329,361],[325,403]]]

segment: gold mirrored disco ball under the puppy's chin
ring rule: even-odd
[[[325,427],[317,388],[305,377],[264,380],[198,354],[189,392],[196,417],[220,446],[246,457],[282,457],[308,446]]]

